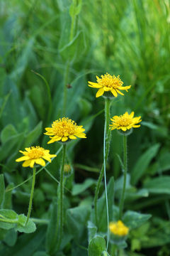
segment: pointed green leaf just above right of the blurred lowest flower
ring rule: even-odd
[[[142,214],[142,213],[137,213],[132,210],[128,210],[124,215],[123,215],[123,223],[127,225],[128,228],[138,228],[140,225],[145,223],[149,218],[151,218],[152,215],[150,214]]]

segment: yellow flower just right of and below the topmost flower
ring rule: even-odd
[[[123,132],[125,132],[128,129],[131,128],[138,128],[140,127],[139,122],[142,120],[141,117],[133,117],[134,112],[131,114],[128,114],[128,112],[125,112],[125,114],[118,116],[114,116],[111,118],[112,124],[110,124],[110,129],[122,129]],[[138,124],[138,125],[137,125]]]

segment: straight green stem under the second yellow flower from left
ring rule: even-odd
[[[62,225],[63,225],[63,197],[64,197],[64,161],[66,156],[66,144],[63,144],[62,149],[62,167],[60,171],[60,238],[58,242],[58,248],[60,248],[62,242]]]

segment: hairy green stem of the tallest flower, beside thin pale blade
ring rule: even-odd
[[[98,193],[101,188],[101,181],[103,179],[104,170],[106,167],[107,159],[108,159],[108,151],[109,151],[109,144],[110,144],[110,138],[111,138],[111,132],[109,130],[109,121],[110,121],[110,107],[111,107],[111,100],[106,98],[105,101],[105,132],[104,132],[104,147],[106,145],[106,150],[103,152],[103,166],[101,169],[100,176],[98,177],[98,182],[96,185],[96,191],[94,196],[94,212],[95,212],[95,221],[96,225],[98,225],[98,217],[97,217],[97,200],[98,200]]]

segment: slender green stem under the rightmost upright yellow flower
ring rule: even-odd
[[[126,186],[126,176],[127,176],[127,171],[128,171],[128,164],[127,164],[127,136],[123,135],[123,158],[124,158],[124,179],[123,179],[123,191],[122,191],[122,196],[120,198],[120,206],[119,206],[119,220],[121,220],[122,215],[123,215],[123,204],[125,201],[125,186]]]

